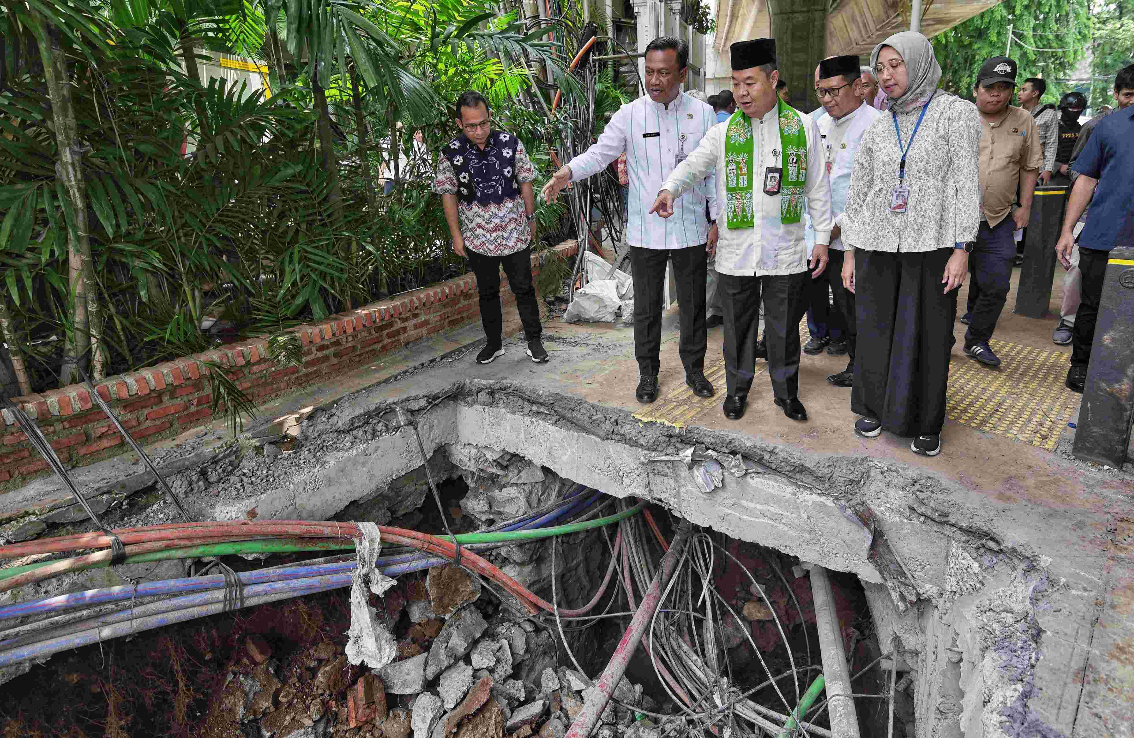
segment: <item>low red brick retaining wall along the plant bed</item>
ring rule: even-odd
[[[575,241],[565,241],[555,251],[570,256]],[[540,273],[541,264],[540,255],[532,257],[533,274]],[[507,278],[501,275],[501,287],[506,285]],[[505,305],[516,302],[510,290],[501,290],[500,297]],[[266,341],[253,339],[110,376],[100,381],[96,390],[135,440],[153,442],[212,421],[212,391],[205,376],[209,367],[203,362],[223,366],[259,405],[356,370],[391,349],[479,321],[480,314],[476,278],[468,273],[294,329],[303,342],[302,367],[280,368],[268,358]],[[95,408],[85,385],[12,400],[36,421],[68,466],[84,466],[129,450],[105,414]],[[0,410],[0,492],[50,474],[11,413]]]

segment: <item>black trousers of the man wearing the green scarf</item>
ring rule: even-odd
[[[777,277],[720,275],[728,393],[746,398],[756,371],[760,300],[764,303],[768,375],[777,399],[799,396],[799,320],[806,312],[807,272]]]

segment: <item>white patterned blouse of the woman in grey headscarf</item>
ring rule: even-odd
[[[890,211],[902,149],[894,116],[883,112],[862,135],[855,156],[843,243],[879,252],[930,252],[976,240],[981,120],[976,105],[938,91],[913,144],[909,135],[922,109],[897,113],[906,154],[906,212]]]

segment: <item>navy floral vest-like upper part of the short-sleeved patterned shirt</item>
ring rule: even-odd
[[[441,150],[457,177],[457,200],[463,203],[500,204],[519,196],[516,183],[516,145],[518,138],[503,130],[493,130],[484,142],[484,151],[460,134]]]

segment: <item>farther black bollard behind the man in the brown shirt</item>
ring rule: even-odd
[[[1019,268],[1016,307],[1024,317],[1048,317],[1051,282],[1056,273],[1056,243],[1063,227],[1064,206],[1070,183],[1039,185],[1032,198],[1032,217],[1024,240],[1024,264]]]

